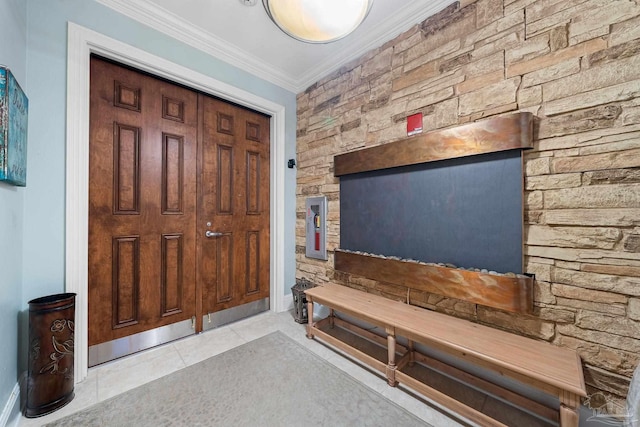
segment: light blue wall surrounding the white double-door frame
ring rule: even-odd
[[[67,22],[120,40],[286,107],[286,153],[295,155],[295,94],[88,0],[28,1],[29,192],[23,299],[64,290]],[[286,172],[285,280],[295,281],[295,175]],[[286,286],[285,286],[286,288]]]

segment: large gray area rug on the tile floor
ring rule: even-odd
[[[280,332],[47,426],[425,426]]]

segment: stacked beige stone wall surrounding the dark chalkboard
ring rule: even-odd
[[[412,303],[575,348],[588,392],[621,400],[640,362],[640,1],[460,1],[298,95],[297,277],[403,299],[406,289],[333,270],[333,156],[529,111],[525,271],[535,312],[432,294]],[[305,199],[328,198],[328,261],[304,255]],[[593,402],[592,402],[593,403]]]

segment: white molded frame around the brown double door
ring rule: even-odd
[[[270,309],[284,302],[285,107],[152,55],[103,34],[68,23],[65,289],[75,292],[75,381],[88,373],[89,57],[97,53],[193,89],[271,116]]]

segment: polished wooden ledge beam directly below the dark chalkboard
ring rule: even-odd
[[[338,271],[514,313],[533,312],[534,279],[336,250]]]

